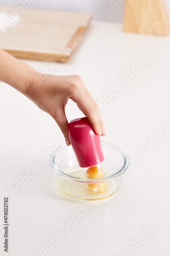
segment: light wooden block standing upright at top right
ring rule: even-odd
[[[164,0],[126,0],[123,31],[167,36],[169,30]]]

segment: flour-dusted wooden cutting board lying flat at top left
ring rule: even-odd
[[[17,58],[65,62],[91,18],[87,13],[0,6],[0,48]]]

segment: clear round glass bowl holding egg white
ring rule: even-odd
[[[102,178],[89,179],[85,176],[87,168],[79,167],[71,145],[62,145],[51,155],[50,163],[56,173],[58,187],[66,196],[83,201],[100,200],[112,196],[119,189],[129,165],[128,156],[110,143],[101,142],[101,146],[105,158]],[[103,182],[107,182],[107,187],[102,193],[94,193],[87,185]]]

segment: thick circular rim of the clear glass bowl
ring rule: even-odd
[[[117,177],[120,177],[122,176],[123,174],[125,174],[125,172],[127,171],[127,168],[129,166],[129,157],[128,155],[123,151],[121,150],[118,146],[115,146],[111,143],[108,143],[108,142],[102,142],[101,141],[101,144],[102,145],[106,145],[106,146],[109,146],[109,147],[112,147],[114,148],[116,151],[118,151],[120,154],[122,154],[123,158],[124,158],[124,164],[123,166],[115,173],[115,174],[112,174],[112,175],[109,175],[107,177],[102,177],[102,178],[93,178],[93,179],[88,179],[88,178],[79,178],[79,177],[76,177],[76,176],[71,176],[71,175],[68,175],[68,174],[65,174],[64,172],[62,172],[62,170],[60,170],[60,168],[57,167],[57,165],[55,164],[55,157],[57,155],[58,152],[60,152],[61,150],[63,150],[64,148],[66,147],[69,147],[67,146],[66,144],[64,145],[61,145],[59,146],[51,155],[50,157],[50,164],[54,170],[54,172],[63,177],[64,179],[67,179],[67,180],[70,180],[70,181],[74,181],[74,182],[81,182],[81,183],[101,183],[101,182],[106,182],[106,181],[109,181],[109,180],[112,180],[112,179],[115,179]]]

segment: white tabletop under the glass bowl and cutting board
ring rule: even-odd
[[[108,88],[121,82],[122,90],[102,108],[107,128],[102,140],[122,148],[130,159],[139,148],[144,154],[131,163],[113,197],[87,203],[90,209],[67,227],[63,223],[76,220],[85,203],[60,194],[48,163],[50,152],[62,143],[62,133],[51,116],[0,83],[1,255],[7,255],[3,251],[4,197],[9,197],[10,256],[169,255],[170,131],[164,127],[164,134],[159,132],[162,122],[170,120],[169,46],[169,37],[123,33],[122,24],[93,21],[68,62],[53,69],[55,75],[79,74],[98,103],[99,97],[109,97]],[[134,66],[140,56],[150,61],[137,70]],[[51,65],[24,61],[38,71]],[[127,82],[122,75],[132,68],[139,72]],[[71,101],[66,115],[68,121],[83,116]],[[149,136],[157,138],[152,148]],[[16,188],[16,180],[35,165],[40,172],[12,197],[9,188]],[[44,246],[57,231],[62,237],[39,254],[39,245]]]

